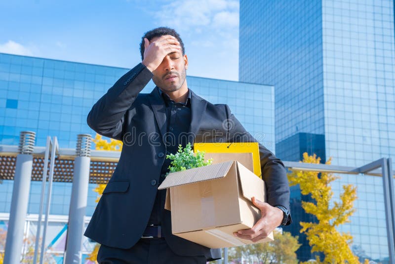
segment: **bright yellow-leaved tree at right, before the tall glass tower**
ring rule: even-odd
[[[320,158],[309,156],[303,153],[303,162],[319,164]],[[325,164],[330,164],[329,159]],[[317,222],[300,222],[305,232],[312,252],[322,252],[324,260],[321,262],[316,257],[316,263],[337,264],[337,263],[359,263],[358,258],[350,249],[353,237],[349,233],[339,232],[336,227],[340,224],[350,222],[349,217],[355,212],[353,209],[356,200],[356,187],[352,184],[343,185],[343,193],[340,194],[340,201],[333,202],[330,183],[339,177],[329,173],[293,171],[288,174],[291,186],[300,184],[303,195],[310,194],[315,200],[313,202],[302,201],[302,207],[308,214],[316,216]]]

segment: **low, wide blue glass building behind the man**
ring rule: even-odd
[[[137,62],[136,62],[137,64]],[[21,131],[36,132],[36,145],[45,146],[46,136],[57,136],[60,148],[75,148],[79,133],[95,136],[86,124],[93,104],[129,69],[82,64],[0,53],[0,144],[18,145]],[[275,150],[274,87],[233,81],[187,77],[188,85],[212,103],[226,103],[238,120],[268,149]],[[155,87],[151,82],[142,92]],[[1,179],[1,171],[0,171]],[[13,181],[0,184],[0,231],[6,229]],[[71,183],[55,182],[46,241],[52,244],[56,262],[62,263],[67,234]],[[96,206],[95,184],[89,185],[86,216]],[[35,230],[39,213],[41,182],[32,181],[27,220]],[[36,216],[37,219],[37,216]],[[31,231],[32,235],[35,233]],[[82,251],[92,245],[86,239]]]

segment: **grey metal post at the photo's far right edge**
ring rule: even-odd
[[[388,253],[390,256],[389,263],[395,263],[395,230],[394,230],[394,179],[392,176],[391,159],[382,159],[382,175],[384,188],[384,207],[386,212],[387,237],[388,237]]]

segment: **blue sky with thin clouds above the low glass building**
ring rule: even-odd
[[[0,0],[0,52],[122,68],[143,34],[174,28],[187,75],[238,80],[238,0]]]

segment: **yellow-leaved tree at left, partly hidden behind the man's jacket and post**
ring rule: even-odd
[[[121,151],[122,150],[122,141],[110,138],[110,142],[106,139],[103,139],[101,135],[96,134],[95,138],[93,139],[95,143],[96,150],[111,150],[111,151]],[[96,188],[93,191],[98,193],[98,197],[96,199],[96,203],[100,200],[100,197],[103,194],[104,188],[106,188],[107,184],[97,184]],[[96,262],[97,259],[97,252],[99,251],[100,245],[97,244],[93,251],[89,254],[86,260]]]

